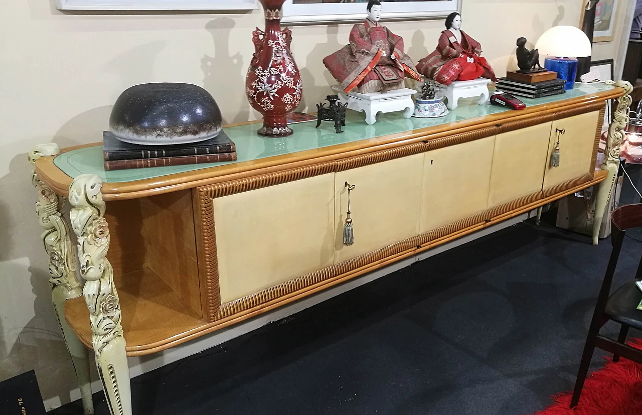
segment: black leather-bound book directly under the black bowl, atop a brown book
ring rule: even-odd
[[[221,130],[214,138],[198,143],[171,146],[143,146],[120,141],[110,131],[103,131],[103,158],[105,160],[157,159],[182,155],[232,153],[236,145]]]

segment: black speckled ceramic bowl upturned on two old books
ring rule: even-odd
[[[127,143],[195,143],[221,131],[221,111],[205,89],[192,84],[134,85],[114,103],[109,127]]]

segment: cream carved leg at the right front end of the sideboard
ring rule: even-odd
[[[595,197],[595,218],[593,222],[593,245],[598,244],[600,235],[600,226],[606,212],[607,205],[611,199],[611,193],[615,186],[615,181],[620,168],[620,145],[624,139],[624,129],[629,123],[629,107],[631,105],[630,93],[633,91],[632,85],[627,81],[607,81],[609,85],[616,85],[624,88],[624,94],[618,98],[618,107],[615,110],[614,119],[609,126],[609,135],[607,136],[606,153],[602,163],[602,169],[607,170],[607,178],[598,184],[597,194]]]

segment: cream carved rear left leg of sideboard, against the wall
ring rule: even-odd
[[[29,161],[34,164],[41,155],[56,155],[60,148],[54,143],[39,145],[29,154]],[[49,283],[51,284],[51,302],[58,317],[62,337],[65,340],[71,362],[73,363],[80,395],[82,396],[85,415],[94,413],[91,398],[91,378],[89,376],[89,351],[69,328],[65,321],[64,306],[68,299],[82,296],[80,281],[76,275],[76,256],[71,242],[69,224],[60,213],[64,198],[58,197],[44,182],[40,181],[35,170],[31,172],[31,182],[38,190],[39,201],[36,203],[38,222],[43,227],[42,242],[49,255]]]

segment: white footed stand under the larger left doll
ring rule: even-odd
[[[368,125],[374,124],[377,121],[377,114],[379,112],[397,112],[403,111],[404,118],[412,117],[415,110],[415,103],[412,100],[412,95],[417,91],[410,88],[395,89],[387,93],[345,93],[341,87],[332,87],[334,92],[339,95],[341,103],[348,103],[348,108],[351,110],[365,112],[365,122]]]

